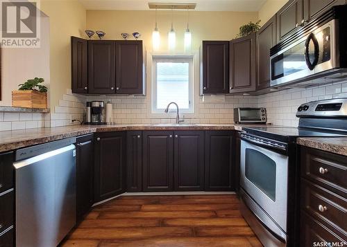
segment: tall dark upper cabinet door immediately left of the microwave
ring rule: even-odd
[[[276,45],[276,15],[257,32],[257,90],[270,86],[270,48]]]

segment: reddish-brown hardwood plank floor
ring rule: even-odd
[[[260,247],[235,195],[121,196],[93,208],[62,246]]]

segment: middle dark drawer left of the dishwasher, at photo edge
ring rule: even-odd
[[[13,225],[14,192],[0,194],[0,232]]]

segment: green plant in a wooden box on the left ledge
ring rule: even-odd
[[[19,84],[12,91],[12,107],[47,108],[47,87],[42,85],[44,78],[35,77]]]

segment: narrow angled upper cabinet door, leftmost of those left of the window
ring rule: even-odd
[[[88,93],[88,42],[71,37],[72,93]]]

